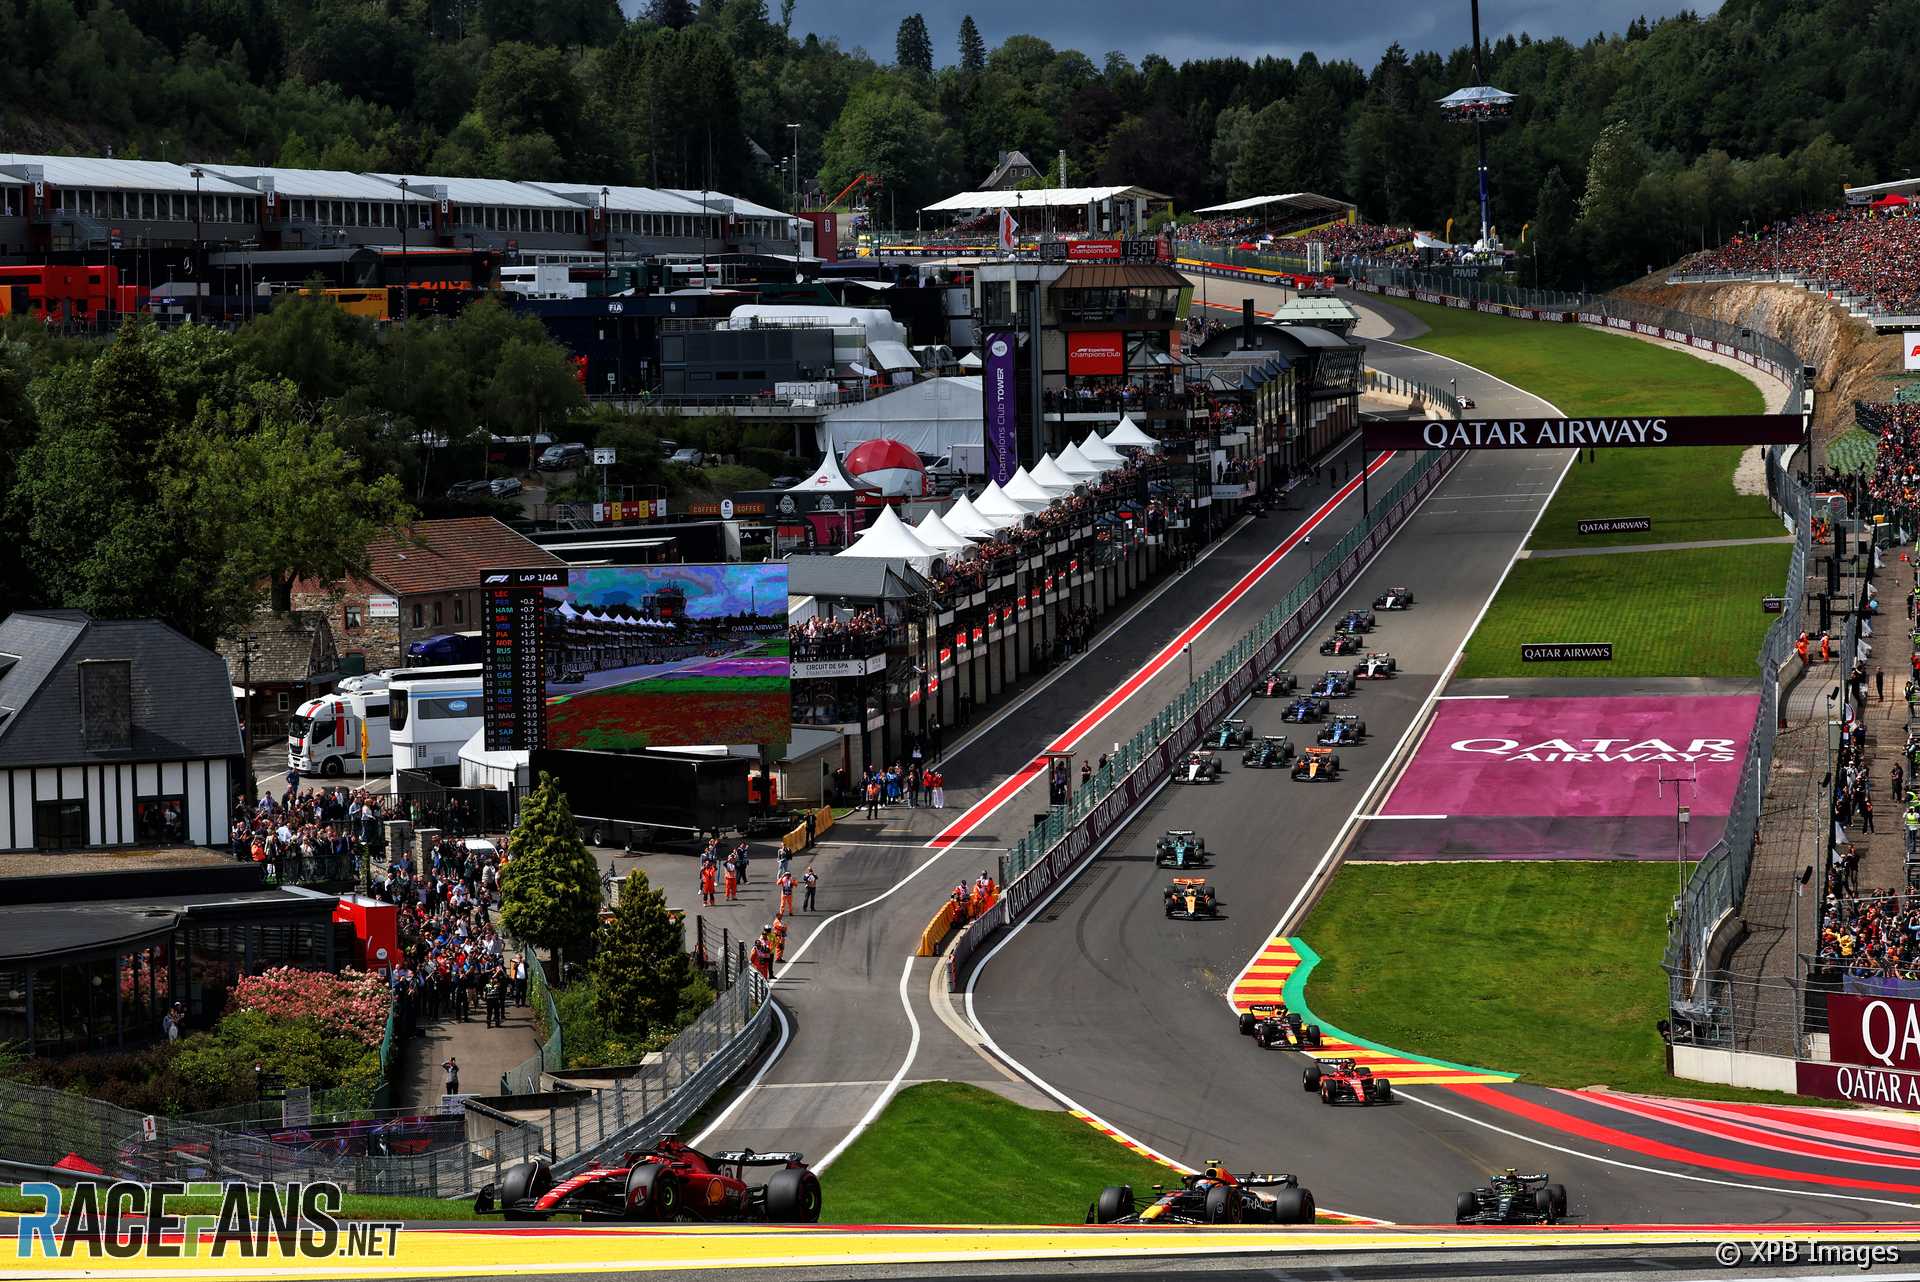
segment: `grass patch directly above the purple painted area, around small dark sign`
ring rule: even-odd
[[[1791,547],[1519,560],[1467,639],[1461,677],[1753,677]],[[1521,645],[1613,641],[1613,662],[1523,664]]]

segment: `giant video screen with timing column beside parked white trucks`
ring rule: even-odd
[[[486,747],[785,743],[787,566],[486,576]]]

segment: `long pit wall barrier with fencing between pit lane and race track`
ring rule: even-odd
[[[1413,507],[1440,484],[1463,455],[1459,451],[1425,451],[1413,472],[1373,505],[1373,520],[1352,530],[1334,553],[1313,566],[1308,582],[1288,593],[1292,610],[1275,620],[1271,614],[1233,647],[1229,656],[1213,664],[1173,704],[1148,722],[1121,752],[1125,770],[1112,766],[1081,789],[1073,806],[1056,806],[1048,823],[1037,825],[1014,852],[1000,860],[1000,881],[1006,890],[1000,900],[970,921],[947,954],[947,986],[956,990],[968,963],[985,940],[1006,925],[1025,917],[1056,885],[1066,881],[1108,837],[1117,833],[1146,800],[1171,777],[1181,756],[1200,743],[1229,708],[1240,702],[1254,681],[1279,662],[1327,606],[1359,576],[1359,568],[1405,524]],[[1238,660],[1238,662],[1231,662]],[[1229,666],[1231,662],[1231,666]],[[1139,750],[1142,739],[1150,739]],[[1071,821],[1068,821],[1071,816]],[[1033,852],[1031,860],[1025,854]],[[1021,862],[1025,860],[1025,862]]]

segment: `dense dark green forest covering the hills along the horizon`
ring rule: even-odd
[[[1501,38],[1484,81],[1519,106],[1494,131],[1494,223],[1507,244],[1526,228],[1544,280],[1597,284],[1920,167],[1914,19],[1920,0],[1728,0],[1582,44]],[[0,0],[0,136],[780,202],[797,123],[806,190],[872,175],[877,223],[906,228],[1008,148],[1183,211],[1309,190],[1380,223],[1476,223],[1471,136],[1432,107],[1475,83],[1465,40],[1359,67],[989,50],[972,19],[941,50],[920,15],[889,35],[820,40],[797,0],[632,19],[618,0]]]

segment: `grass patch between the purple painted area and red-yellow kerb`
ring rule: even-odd
[[[1672,864],[1350,864],[1300,929],[1321,1021],[1396,1050],[1707,1100],[1797,1096],[1667,1077]],[[1692,866],[1686,866],[1692,871]],[[1382,931],[1380,923],[1392,923]]]

